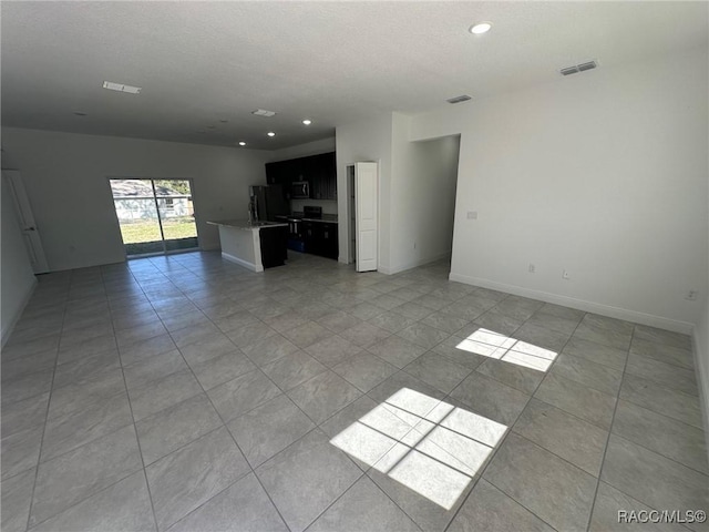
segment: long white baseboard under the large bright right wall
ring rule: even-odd
[[[603,305],[600,303],[587,301],[585,299],[576,299],[568,296],[559,296],[557,294],[549,294],[547,291],[532,290],[530,288],[523,288],[515,285],[506,285],[503,283],[496,283],[494,280],[481,279],[477,277],[470,277],[467,275],[453,274],[449,276],[450,280],[458,283],[464,283],[466,285],[480,286],[482,288],[490,288],[491,290],[506,291],[515,296],[528,297],[532,299],[538,299],[540,301],[553,303],[555,305],[563,305],[565,307],[576,308],[586,313],[599,314],[608,316],[609,318],[624,319],[626,321],[633,321],[635,324],[647,325],[649,327],[657,327],[658,329],[672,330],[675,332],[681,332],[684,335],[691,335],[693,324],[688,321],[678,321],[675,319],[662,318],[661,316],[655,316],[651,314],[638,313],[637,310],[629,310],[627,308],[614,307],[610,305]]]

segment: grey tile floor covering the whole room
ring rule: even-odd
[[[41,276],[1,357],[3,532],[596,531],[709,510],[689,337],[445,263],[291,257]]]

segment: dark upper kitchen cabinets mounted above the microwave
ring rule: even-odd
[[[335,152],[267,163],[266,181],[269,185],[282,185],[286,194],[290,192],[291,183],[307,181],[310,198],[337,200]]]

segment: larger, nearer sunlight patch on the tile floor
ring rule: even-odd
[[[330,443],[450,510],[507,427],[402,388]]]

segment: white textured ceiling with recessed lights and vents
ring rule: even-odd
[[[561,83],[559,68],[589,59],[707,45],[708,25],[702,1],[3,1],[1,14],[3,125],[266,150],[459,94]],[[492,31],[470,34],[481,20]]]

